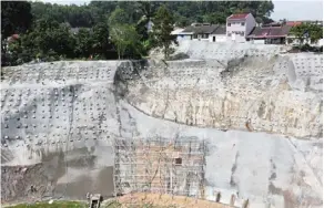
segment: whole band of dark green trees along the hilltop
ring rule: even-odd
[[[162,6],[164,13],[159,14]],[[165,32],[176,25],[224,23],[234,12],[252,12],[259,22],[269,22],[272,11],[271,1],[91,1],[84,6],[1,1],[1,65],[32,60],[140,59],[154,46],[162,46],[169,56],[175,38]],[[156,24],[152,32],[145,28],[149,21]],[[12,34],[19,38],[8,42]]]

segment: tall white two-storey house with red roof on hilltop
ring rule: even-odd
[[[246,37],[256,25],[256,21],[251,13],[236,13],[226,19],[227,40],[245,42]]]

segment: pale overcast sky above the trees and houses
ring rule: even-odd
[[[60,4],[83,4],[90,0],[43,0]],[[271,14],[273,20],[323,20],[323,0],[272,0],[274,11]]]

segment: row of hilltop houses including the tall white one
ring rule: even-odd
[[[296,44],[290,30],[302,22],[323,25],[323,21],[282,21],[260,25],[251,13],[234,13],[226,18],[226,24],[192,23],[176,29],[172,34],[178,41],[250,42],[252,44]],[[322,44],[323,40],[318,41]]]

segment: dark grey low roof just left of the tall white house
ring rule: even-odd
[[[226,33],[226,28],[225,25],[220,25],[220,24],[210,24],[210,25],[190,25],[186,27],[181,34],[225,34]]]

